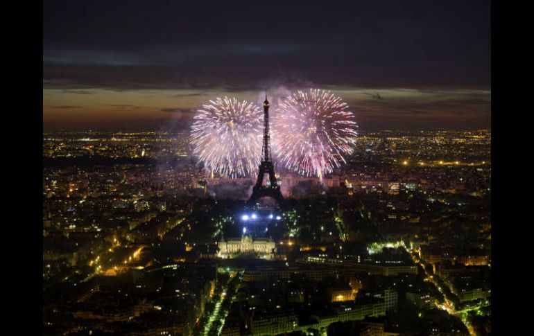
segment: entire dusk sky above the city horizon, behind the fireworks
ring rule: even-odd
[[[309,87],[361,130],[490,127],[489,0],[43,7],[44,131],[187,127],[217,96]]]

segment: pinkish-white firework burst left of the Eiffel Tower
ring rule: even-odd
[[[230,177],[255,173],[264,122],[257,105],[236,98],[216,98],[198,109],[193,118],[193,154],[209,170]]]

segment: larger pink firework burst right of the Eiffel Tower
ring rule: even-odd
[[[322,177],[346,163],[357,127],[347,103],[330,91],[297,91],[279,102],[273,116],[273,153],[286,168]]]

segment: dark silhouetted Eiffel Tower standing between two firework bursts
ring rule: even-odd
[[[269,174],[269,184],[264,185],[265,174]],[[269,143],[269,102],[267,95],[264,101],[264,146],[261,150],[261,163],[259,163],[259,173],[256,185],[252,188],[252,195],[247,202],[248,207],[253,207],[261,197],[270,197],[275,200],[278,205],[284,201],[280,187],[276,183],[275,166],[270,159],[270,143]]]

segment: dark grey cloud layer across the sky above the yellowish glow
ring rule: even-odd
[[[489,1],[373,3],[286,3],[262,20],[250,6],[47,1],[44,86],[489,87]]]

